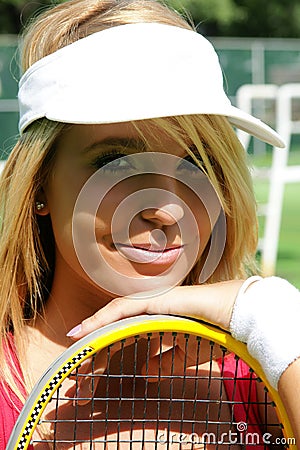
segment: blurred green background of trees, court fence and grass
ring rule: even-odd
[[[55,2],[60,3],[60,2]],[[299,0],[166,0],[165,3],[191,17],[197,30],[214,44],[224,70],[226,90],[236,103],[243,84],[300,83]],[[0,3],[0,159],[5,160],[18,136],[17,82],[18,37],[24,24],[50,1],[1,0]],[[275,105],[254,104],[254,114],[275,125]],[[293,104],[300,123],[300,99]],[[250,163],[270,167],[272,152],[251,139]],[[300,165],[300,139],[295,135],[289,164]],[[268,181],[255,180],[259,203],[268,198]],[[264,219],[260,218],[263,235]],[[276,274],[300,288],[300,181],[285,187]]]

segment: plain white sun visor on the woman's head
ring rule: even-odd
[[[19,103],[21,133],[42,117],[107,124],[216,114],[284,147],[274,130],[230,103],[218,56],[207,39],[159,23],[109,28],[42,58],[21,78]]]

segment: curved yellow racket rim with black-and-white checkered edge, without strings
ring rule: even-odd
[[[28,448],[35,425],[38,423],[54,392],[63,380],[83,361],[94,353],[122,339],[155,332],[178,332],[200,336],[225,347],[239,356],[254,370],[267,387],[275,403],[277,416],[283,426],[283,434],[287,443],[289,443],[289,448],[297,449],[296,440],[280,396],[270,386],[260,364],[249,354],[245,344],[236,341],[228,332],[208,323],[177,316],[153,315],[123,319],[94,331],[67,349],[49,367],[30,394],[15,425],[6,450],[23,450]]]

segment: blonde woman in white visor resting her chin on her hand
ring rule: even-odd
[[[28,28],[22,50],[20,139],[0,187],[1,449],[49,363],[105,323],[174,313],[252,342],[272,295],[272,341],[279,297],[289,321],[299,310],[295,288],[255,276],[233,126],[283,143],[230,104],[213,48],[182,17],[152,0],[71,0]],[[295,347],[284,361],[254,354],[279,367],[269,378],[297,433]]]

